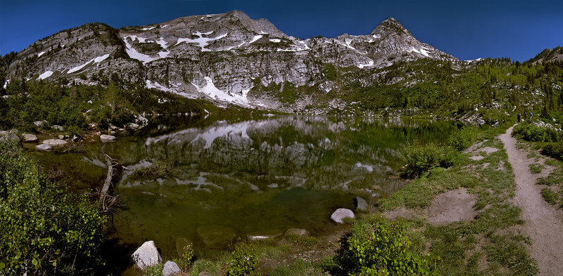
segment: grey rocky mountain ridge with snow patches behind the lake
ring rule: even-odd
[[[101,23],[68,29],[20,51],[7,79],[97,84],[118,78],[218,105],[287,110],[303,107],[316,94],[339,91],[342,81],[334,79],[339,71],[374,70],[419,58],[457,60],[421,43],[393,18],[368,35],[302,40],[266,19],[232,11],[121,29]],[[347,81],[369,85],[377,78]],[[290,106],[278,95],[289,86],[314,93]]]

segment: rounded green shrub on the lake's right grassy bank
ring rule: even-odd
[[[438,166],[443,159],[443,153],[443,148],[434,143],[426,145],[407,143],[399,149],[399,158],[406,163],[403,173],[408,177],[420,176]]]

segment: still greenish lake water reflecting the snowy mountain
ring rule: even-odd
[[[123,206],[113,218],[117,235],[131,244],[154,240],[165,256],[175,256],[184,239],[207,249],[224,246],[221,237],[253,232],[334,230],[329,216],[353,209],[354,197],[377,202],[403,187],[397,177],[402,143],[441,143],[457,129],[452,122],[421,119],[159,121],[113,143],[88,143],[82,152],[28,152],[47,171],[65,171],[61,180],[72,187],[91,189],[106,176],[103,147],[130,169],[116,185]],[[154,162],[173,164],[173,175],[131,177]]]

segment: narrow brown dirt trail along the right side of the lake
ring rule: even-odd
[[[537,178],[548,175],[552,168],[546,166],[542,173],[531,174],[529,165],[536,162],[518,150],[511,134],[512,127],[500,140],[505,144],[514,171],[517,186],[514,202],[522,209],[521,218],[526,221],[523,230],[532,241],[530,254],[538,261],[539,275],[563,275],[563,213],[543,200],[536,185]]]

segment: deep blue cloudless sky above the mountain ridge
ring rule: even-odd
[[[528,60],[563,46],[562,0],[220,1],[0,0],[0,54],[88,22],[147,25],[187,15],[241,10],[294,37],[369,34],[388,17],[415,38],[462,60]]]

